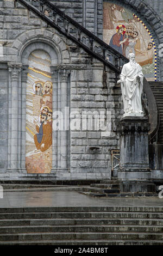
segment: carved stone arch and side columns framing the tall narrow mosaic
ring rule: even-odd
[[[33,34],[33,36],[32,36]],[[45,36],[46,35],[46,36]],[[53,111],[66,107],[64,92],[67,92],[70,71],[59,70],[58,64],[70,62],[65,42],[57,34],[45,29],[33,29],[21,34],[12,45],[17,49],[17,63],[9,66],[9,140],[8,171],[10,173],[27,173],[26,170],[26,83],[28,74],[28,57],[34,50],[44,50],[51,57],[51,74],[53,83]],[[66,73],[66,77],[65,77]],[[63,82],[64,81],[64,82]],[[60,99],[61,95],[61,99]],[[61,101],[61,103],[60,103]],[[64,106],[65,104],[65,106]],[[53,131],[52,172],[68,170],[67,166],[67,132]],[[70,150],[69,150],[70,151]],[[56,154],[58,157],[56,158]]]

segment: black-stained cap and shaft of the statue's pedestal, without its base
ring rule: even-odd
[[[124,172],[149,170],[148,120],[140,117],[125,117],[120,121],[120,169]],[[137,177],[138,179],[138,177]]]

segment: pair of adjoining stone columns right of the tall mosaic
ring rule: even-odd
[[[67,102],[67,83],[68,75],[71,73],[69,69],[51,66],[52,82],[53,82],[53,113],[61,111],[65,117],[65,108]],[[69,118],[69,115],[65,118]],[[52,170],[51,173],[67,171],[67,124],[68,120],[63,120],[63,130],[53,130],[52,143]]]

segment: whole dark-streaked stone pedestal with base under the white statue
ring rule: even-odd
[[[143,117],[124,117],[120,121],[120,168],[118,180],[122,192],[154,192],[150,181],[148,131],[150,124]]]

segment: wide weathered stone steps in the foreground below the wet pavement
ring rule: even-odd
[[[163,245],[162,207],[1,208],[0,245]]]

